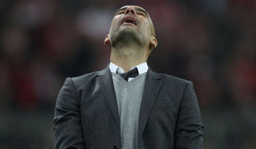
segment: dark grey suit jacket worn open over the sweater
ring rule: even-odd
[[[193,83],[147,72],[139,113],[138,148],[203,148],[203,124]],[[120,149],[120,119],[109,65],[66,78],[56,102],[55,149]]]

